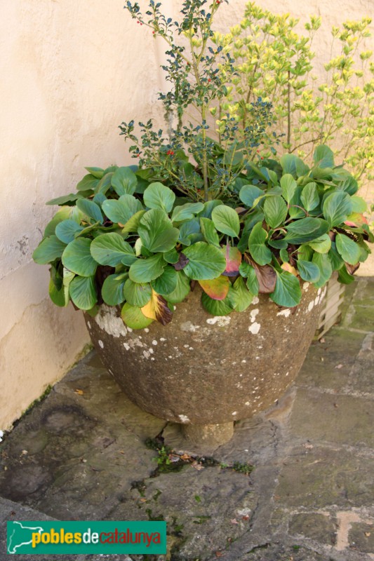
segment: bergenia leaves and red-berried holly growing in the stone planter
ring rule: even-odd
[[[333,271],[349,283],[368,256],[366,204],[328,147],[318,147],[309,164],[294,154],[261,159],[261,131],[272,122],[261,100],[244,129],[229,115],[220,116],[218,130],[212,117],[209,125],[234,72],[211,43],[220,5],[186,0],[181,22],[173,22],[159,4],[150,2],[147,19],[128,4],[168,43],[173,87],[161,101],[176,124],[164,134],[147,121],[138,140],[133,121],[123,123],[138,165],[86,168],[75,193],[49,201],[62,208],[33,257],[50,264],[58,306],[72,300],[91,314],[101,304],[120,306],[133,329],[169,323],[198,286],[214,316],[244,311],[258,294],[293,307],[302,283],[321,288]],[[178,46],[182,34],[189,50]]]

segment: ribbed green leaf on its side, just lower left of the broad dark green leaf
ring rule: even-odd
[[[131,245],[115,232],[100,234],[95,238],[91,243],[91,255],[100,265],[112,267],[120,264],[123,257],[130,257],[131,262],[136,259]]]

